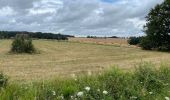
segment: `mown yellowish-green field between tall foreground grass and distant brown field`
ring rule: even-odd
[[[0,40],[0,71],[11,81],[48,80],[72,74],[99,72],[118,66],[130,69],[137,63],[170,63],[170,53],[95,43],[34,40],[40,54],[9,54],[11,40]]]

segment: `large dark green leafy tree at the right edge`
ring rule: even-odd
[[[146,37],[141,47],[147,50],[170,51],[170,0],[165,0],[151,9],[146,17]]]

